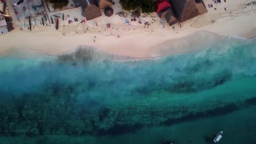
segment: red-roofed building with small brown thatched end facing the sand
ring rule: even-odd
[[[169,0],[158,0],[156,6],[156,13],[161,19],[166,19],[166,22],[169,23],[170,26],[178,22],[174,16]]]

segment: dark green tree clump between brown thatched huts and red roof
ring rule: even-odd
[[[155,3],[152,0],[120,0],[120,4],[125,10],[135,10],[140,8],[142,13],[153,13],[155,11]]]

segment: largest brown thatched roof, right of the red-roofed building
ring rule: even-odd
[[[179,22],[192,19],[193,17],[204,13],[203,11],[207,12],[206,7],[200,0],[170,0],[170,3]]]

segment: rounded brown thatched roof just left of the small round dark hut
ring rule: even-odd
[[[96,5],[88,4],[84,9],[84,16],[88,21],[95,19],[96,17],[101,16],[101,10]]]

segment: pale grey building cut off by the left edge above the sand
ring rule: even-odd
[[[0,35],[13,30],[13,19],[9,14],[6,1],[0,1]]]

